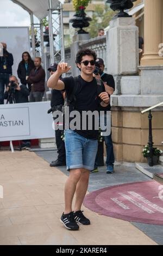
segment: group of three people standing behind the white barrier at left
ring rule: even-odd
[[[10,97],[10,85],[15,80],[18,84],[17,87],[15,86],[15,103],[28,102],[28,97],[24,97],[24,86],[29,92],[29,102],[41,102],[45,92],[45,70],[41,66],[41,57],[35,57],[33,61],[28,52],[22,53],[22,60],[17,68],[17,76],[21,82],[19,84],[16,75],[12,76],[14,64],[12,53],[7,51],[6,43],[1,44],[3,54],[0,57],[0,104],[4,104],[4,99],[7,99],[7,96]],[[15,79],[13,79],[14,77]],[[4,93],[4,91],[6,92]],[[10,98],[10,103],[11,100]]]

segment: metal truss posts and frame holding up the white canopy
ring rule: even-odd
[[[42,62],[45,64],[45,48],[43,45],[43,24],[42,19],[48,16],[49,25],[49,50],[51,57],[51,64],[60,56],[60,61],[65,61],[65,48],[64,48],[64,24],[62,16],[62,4],[64,0],[11,0],[12,2],[20,5],[23,9],[30,14],[31,22],[31,38],[32,38],[32,53],[33,57],[36,56],[36,44],[40,42],[40,53]],[[54,13],[55,11],[55,13]],[[54,15],[55,14],[55,15]],[[34,23],[34,15],[39,19],[40,23]],[[56,29],[56,24],[59,28]],[[35,40],[35,29],[37,31],[37,40]],[[54,41],[53,34],[57,32],[58,41]],[[57,46],[58,50],[55,51],[54,47]],[[55,53],[54,53],[55,51]]]

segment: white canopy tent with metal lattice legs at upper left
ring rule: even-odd
[[[57,10],[60,20],[60,45],[61,49],[61,59],[65,60],[65,50],[64,50],[64,28],[63,28],[63,19],[62,19],[62,4],[64,0],[11,0],[12,2],[20,5],[23,9],[28,11],[31,19],[31,28],[32,28],[32,48],[33,48],[33,57],[35,56],[35,32],[34,32],[34,19],[35,15],[40,20],[40,39],[41,39],[41,55],[44,56],[44,46],[43,46],[43,26],[41,20],[48,16],[49,22],[49,45],[50,45],[50,55],[51,63],[54,63],[54,39],[53,39],[53,11]],[[59,52],[58,51],[58,52]]]

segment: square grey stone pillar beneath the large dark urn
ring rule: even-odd
[[[110,21],[106,33],[107,73],[112,75],[136,74],[139,64],[138,28],[133,17]]]

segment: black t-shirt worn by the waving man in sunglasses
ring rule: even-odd
[[[76,86],[74,83],[74,79],[72,76],[70,78],[64,78],[62,81],[65,84],[66,92],[72,92],[73,87]],[[95,127],[92,126],[92,130],[82,130],[82,111],[95,111],[99,110],[100,100],[98,98],[97,91],[97,81],[95,78],[91,82],[85,81],[82,76],[78,76],[78,90],[76,94],[76,102],[74,106],[74,110],[80,112],[80,130],[76,130],[76,132],[87,139],[97,140],[98,138],[98,130],[95,130]],[[105,87],[102,85],[102,91],[105,92]],[[72,118],[73,119],[73,118]],[[70,118],[71,121],[71,118]]]

